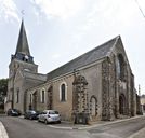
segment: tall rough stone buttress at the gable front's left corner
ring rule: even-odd
[[[115,73],[114,63],[106,58],[102,64],[102,120],[115,118]]]

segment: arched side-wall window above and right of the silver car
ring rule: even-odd
[[[62,84],[60,87],[60,100],[61,101],[66,101],[66,84]]]

